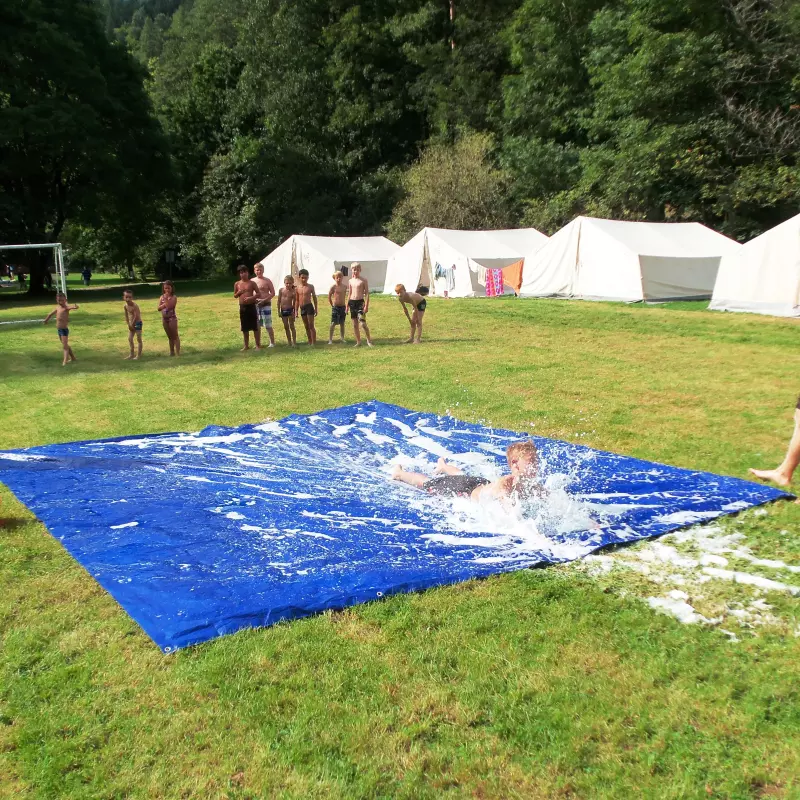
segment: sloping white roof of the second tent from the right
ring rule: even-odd
[[[741,247],[733,239],[699,222],[629,222],[577,217],[570,223],[577,224],[591,225],[641,256],[710,258]]]

